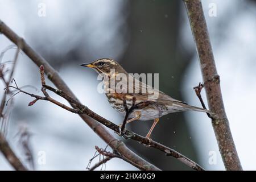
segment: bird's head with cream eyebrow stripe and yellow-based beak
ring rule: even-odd
[[[117,73],[127,73],[117,61],[109,58],[98,59],[92,63],[81,64],[82,67],[88,67],[94,69],[97,73],[104,73],[105,75],[110,75],[110,71]]]

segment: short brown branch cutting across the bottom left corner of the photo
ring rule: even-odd
[[[9,146],[5,137],[0,133],[0,151],[3,153],[5,158],[14,167],[14,169],[19,171],[26,171],[27,168],[23,166],[22,162],[20,162],[19,158],[14,154],[13,150]]]

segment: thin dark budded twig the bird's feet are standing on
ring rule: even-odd
[[[33,100],[28,105],[32,105],[31,103],[34,103],[37,100],[50,101],[50,102],[52,102],[53,104],[55,104],[57,106],[63,107],[63,109],[65,109],[65,110],[71,111],[72,113],[87,114],[90,117],[92,117],[93,119],[96,119],[98,122],[100,122],[103,125],[105,125],[106,127],[109,127],[109,129],[112,129],[116,133],[119,133],[119,126],[115,125],[114,123],[108,121],[105,118],[102,118],[100,115],[97,115],[96,113],[93,113],[93,111],[88,109],[88,107],[80,104],[79,102],[74,100],[72,97],[68,96],[68,94],[66,94],[62,90],[57,90],[57,89],[52,88],[49,85],[45,85],[46,82],[45,82],[45,79],[44,79],[44,68],[43,68],[43,65],[40,66],[39,70],[40,70],[41,82],[42,82],[42,89],[41,90],[44,93],[45,97],[37,96],[35,94],[24,92],[22,89],[18,88],[18,85],[16,84],[16,82],[15,82],[15,86],[9,86],[9,87],[17,89],[17,90],[19,90],[19,92],[22,92],[24,94],[28,94],[29,96],[36,98],[36,100]],[[65,98],[65,100],[67,100],[72,105],[75,105],[78,109],[73,109],[72,107],[69,107],[67,105],[61,104],[59,101],[54,100],[46,92],[46,89],[51,90],[52,92],[56,93],[57,95]],[[147,103],[147,102],[142,102],[142,103],[139,103],[137,105],[134,105],[133,108],[142,108],[142,107],[147,106],[148,104],[149,103]],[[127,113],[129,113],[129,112],[127,112]],[[184,164],[186,164],[187,166],[189,166],[189,167],[191,167],[193,169],[200,170],[200,171],[204,170],[201,166],[199,166],[199,164],[196,164],[191,159],[188,159],[186,156],[179,154],[179,152],[177,152],[177,151],[175,151],[175,150],[173,150],[173,149],[171,149],[169,147],[166,147],[163,144],[157,143],[154,140],[148,140],[148,138],[142,137],[141,135],[135,134],[135,133],[133,133],[132,131],[129,131],[129,130],[123,130],[123,134],[125,136],[129,136],[129,138],[131,138],[133,140],[136,140],[136,141],[138,141],[140,143],[145,144],[146,146],[154,147],[154,148],[156,148],[156,149],[158,149],[160,151],[163,151],[167,156],[173,156],[174,158],[180,160],[181,162],[183,162]],[[110,144],[111,143],[112,142],[110,142]],[[114,148],[113,148],[113,150],[114,150]],[[119,151],[118,151],[118,153],[119,153]],[[120,156],[123,156],[123,155],[120,154]],[[126,156],[122,157],[122,159],[124,159],[124,158],[126,160],[129,160],[129,159],[126,158]],[[140,167],[141,169],[143,168],[143,167],[141,167],[141,165],[136,164],[134,162],[129,161],[129,163],[133,164],[134,166]]]

